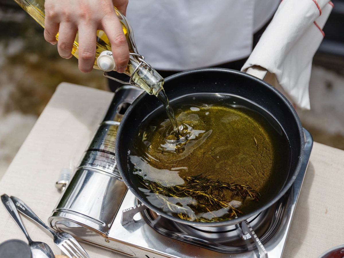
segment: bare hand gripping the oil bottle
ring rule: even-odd
[[[116,63],[123,73],[129,61],[129,48],[114,6],[125,15],[128,0],[45,0],[44,38],[56,44],[64,58],[72,57],[76,32],[79,36],[79,70],[92,71],[96,54],[96,31],[104,30]]]

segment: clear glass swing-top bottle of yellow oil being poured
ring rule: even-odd
[[[44,0],[14,0],[16,3],[19,4],[20,7],[22,7],[27,13],[30,14],[30,16],[35,19],[36,22],[38,22],[43,28],[44,28]],[[148,92],[151,95],[158,96],[158,93],[162,89],[163,85],[163,78],[158,74],[157,71],[155,71],[149,64],[147,64],[144,61],[143,56],[138,54],[135,41],[133,38],[133,33],[131,26],[128,24],[126,18],[124,15],[120,13],[115,8],[115,12],[117,14],[117,17],[122,24],[122,29],[124,32],[124,35],[126,36],[128,46],[129,46],[129,63],[125,70],[125,74],[130,76],[129,83],[123,82],[121,80],[118,80],[114,77],[111,77],[106,74],[104,71],[104,75],[108,78],[117,80],[118,82],[122,84],[131,84],[137,87],[140,87],[144,89],[146,92]],[[56,39],[58,40],[58,33],[56,35]],[[78,58],[78,34],[76,34],[72,54]],[[98,57],[102,55],[111,55],[111,45],[110,41],[107,38],[106,34],[102,30],[97,31],[97,47],[96,47],[96,58],[94,61],[94,68],[100,69],[97,65],[97,59]],[[112,58],[112,56],[111,56]],[[114,71],[115,68],[114,68]]]

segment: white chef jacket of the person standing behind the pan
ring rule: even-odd
[[[183,71],[247,57],[280,0],[130,0],[138,52],[155,69]]]

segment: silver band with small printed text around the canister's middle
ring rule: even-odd
[[[90,166],[120,175],[115,153],[102,150],[89,150],[85,153],[80,166]]]

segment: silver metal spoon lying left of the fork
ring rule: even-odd
[[[5,206],[11,217],[14,219],[14,221],[17,223],[19,228],[22,230],[25,237],[28,239],[29,247],[32,252],[32,258],[54,258],[55,256],[53,254],[53,251],[47,244],[43,242],[34,242],[31,240],[28,232],[24,227],[23,222],[19,217],[17,208],[15,208],[15,205],[11,198],[7,194],[3,194],[1,195],[1,202]]]

